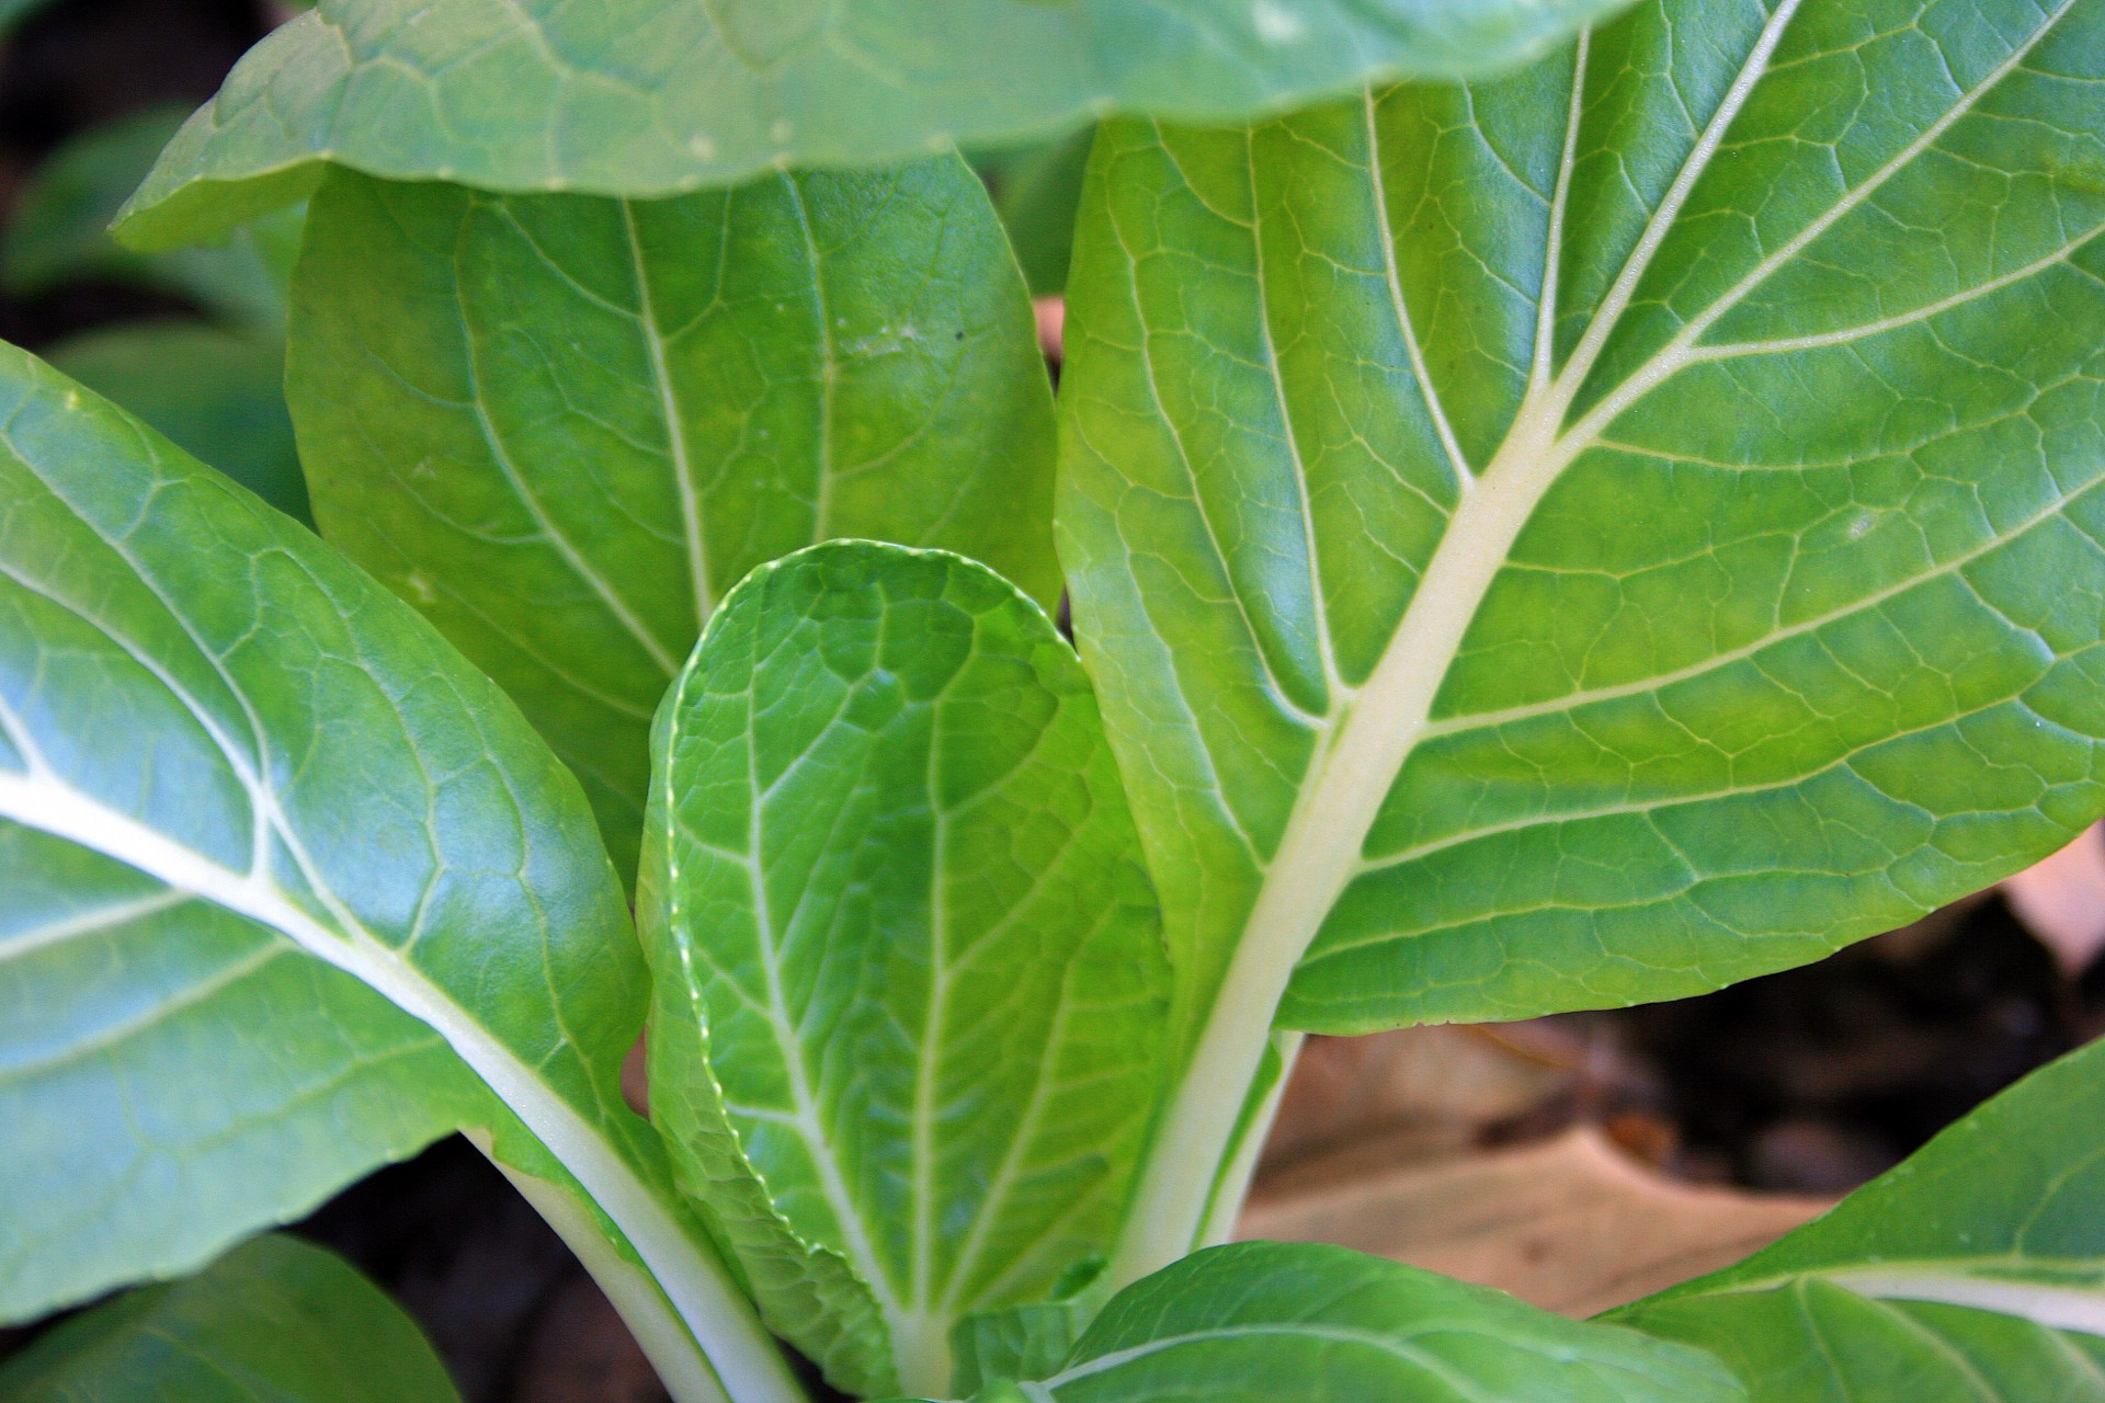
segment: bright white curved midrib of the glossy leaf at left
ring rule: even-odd
[[[6,719],[6,717],[0,717]],[[11,732],[19,730],[8,726]],[[25,740],[25,736],[17,736]],[[17,745],[17,749],[21,749]],[[303,858],[297,837],[278,818],[274,797],[250,785],[257,806],[257,848],[276,835],[322,894],[335,928],[293,902],[263,871],[236,873],[177,843],[131,814],[109,808],[63,782],[34,749],[23,751],[27,772],[0,770],[0,818],[101,852],[177,892],[213,902],[278,930],[297,947],[343,970],[387,997],[446,1039],[453,1052],[526,1123],[568,1167],[594,1201],[621,1228],[659,1279],[667,1300],[709,1355],[709,1365],[741,1403],[802,1403],[766,1329],[724,1268],[703,1256],[686,1226],[657,1199],[598,1127],[560,1098],[526,1062],[505,1048],[467,1010],[410,968],[396,951],[366,932],[328,896]],[[699,1386],[680,1403],[720,1403],[720,1392]],[[709,1384],[714,1388],[714,1382]]]

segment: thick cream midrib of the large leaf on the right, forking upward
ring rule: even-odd
[[[1234,1125],[1261,1066],[1271,1018],[1286,982],[1314,942],[1322,919],[1358,871],[1364,837],[1404,761],[1429,728],[1431,705],[1446,679],[1448,663],[1461,650],[1463,635],[1490,591],[1492,578],[1505,566],[1513,543],[1549,486],[1631,404],[1673,374],[1705,360],[1699,341],[1720,318],[1926,151],[1972,109],[1983,93],[2014,72],[2073,4],[2076,0],[2061,0],[2025,42],[2014,46],[1937,122],[1823,210],[1819,219],[1764,257],[1718,301],[1690,318],[1615,391],[1606,393],[1577,423],[1564,427],[1682,206],[1768,69],[1800,0],[1783,0],[1777,6],[1732,86],[1690,147],[1682,170],[1646,221],[1638,244],[1564,370],[1545,379],[1549,362],[1545,355],[1535,358],[1535,377],[1505,442],[1478,477],[1461,480],[1448,530],[1442,534],[1375,671],[1358,692],[1345,692],[1332,705],[1326,724],[1318,730],[1309,778],[1301,787],[1280,846],[1265,869],[1257,902],[1244,921],[1234,959],[1208,1010],[1183,1081],[1143,1163],[1132,1209],[1126,1216],[1126,1233],[1105,1273],[1107,1287],[1116,1289],[1168,1266],[1194,1247],[1202,1224],[1208,1222],[1215,1170],[1231,1148]],[[1577,126],[1566,137],[1575,130]],[[1568,158],[1570,143],[1566,143]],[[1564,183],[1566,177],[1560,172],[1560,194]],[[1545,267],[1545,294],[1553,294],[1551,278],[1553,271]],[[1408,318],[1408,309],[1402,305],[1400,318]],[[1553,318],[1541,318],[1543,328],[1551,324]],[[1404,328],[1408,334],[1408,320]],[[1425,389],[1431,398],[1429,383]],[[1215,1216],[1215,1220],[1225,1218],[1227,1214]]]

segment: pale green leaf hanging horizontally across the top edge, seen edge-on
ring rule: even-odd
[[[128,238],[210,238],[314,189],[326,162],[669,196],[1107,109],[1240,120],[1377,74],[1482,74],[1617,2],[322,0],[192,118]]]

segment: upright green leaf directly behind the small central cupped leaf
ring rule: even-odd
[[[874,536],[1059,597],[1036,328],[954,156],[661,202],[339,172],[295,301],[324,532],[520,700],[623,873],[650,713],[754,566]]]

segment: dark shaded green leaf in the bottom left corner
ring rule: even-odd
[[[459,1403],[417,1323],[341,1258],[259,1237],[0,1365],[11,1403]]]

